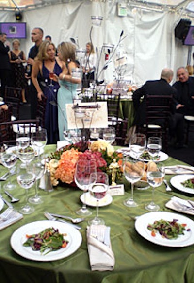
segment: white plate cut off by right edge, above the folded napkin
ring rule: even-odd
[[[194,174],[182,174],[182,175],[177,175],[174,176],[170,179],[171,185],[176,188],[179,191],[182,191],[184,193],[189,193],[189,194],[194,194],[194,189],[184,187],[181,183],[194,178]]]

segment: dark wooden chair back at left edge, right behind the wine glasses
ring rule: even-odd
[[[0,123],[0,146],[5,144],[16,144],[16,132],[24,131],[31,133],[37,131],[40,119],[15,120]]]

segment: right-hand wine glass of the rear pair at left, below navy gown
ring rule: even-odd
[[[40,129],[31,135],[31,143],[32,146],[37,149],[38,157],[39,157],[39,163],[41,163],[40,160],[40,150],[43,149],[45,145],[47,144],[47,130],[46,129]]]

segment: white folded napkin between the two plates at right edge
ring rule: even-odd
[[[177,196],[173,196],[165,204],[165,206],[178,212],[194,215],[194,201],[192,200],[186,200]]]

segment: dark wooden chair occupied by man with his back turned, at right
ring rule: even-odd
[[[143,131],[148,136],[162,137],[163,148],[168,150],[169,117],[172,107],[171,95],[147,95],[146,97],[146,124]]]

